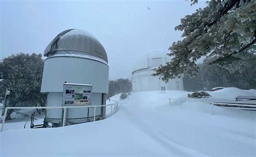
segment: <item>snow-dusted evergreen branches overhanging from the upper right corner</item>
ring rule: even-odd
[[[169,48],[168,55],[174,58],[156,69],[153,76],[160,76],[166,82],[183,73],[195,76],[199,70],[197,60],[202,56],[211,60],[209,64],[234,70],[230,66],[233,62],[247,60],[255,53],[255,8],[256,1],[208,1],[204,9],[185,16],[175,27],[183,31],[184,39]]]

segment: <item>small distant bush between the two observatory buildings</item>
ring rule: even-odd
[[[109,94],[107,98],[119,93],[125,93],[132,91],[132,82],[129,79],[118,79],[109,81]]]

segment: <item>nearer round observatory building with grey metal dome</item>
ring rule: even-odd
[[[108,92],[109,66],[107,54],[100,42],[92,34],[77,29],[59,33],[46,47],[44,56],[43,80],[41,92],[48,93],[47,106],[62,106],[64,83],[88,84],[92,87],[89,105],[105,105]],[[74,97],[75,91],[66,90],[66,94]],[[75,95],[76,96],[76,95]],[[82,95],[84,96],[84,95]],[[84,96],[87,99],[87,96]],[[88,98],[89,99],[89,98]],[[72,100],[65,104],[72,105]],[[88,109],[89,110],[89,109]],[[69,124],[83,123],[91,120],[93,109],[69,109],[66,122]],[[59,126],[62,109],[49,109],[45,122]],[[96,108],[96,118],[105,118],[105,107]]]

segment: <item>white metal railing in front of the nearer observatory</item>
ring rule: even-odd
[[[45,106],[45,107],[6,107],[4,110],[4,116],[3,116],[3,121],[2,121],[2,126],[1,126],[1,132],[3,131],[4,128],[4,123],[5,123],[5,119],[6,119],[6,115],[7,115],[7,111],[10,109],[63,109],[64,110],[64,116],[63,116],[63,125],[65,126],[66,124],[66,109],[71,109],[71,108],[93,108],[94,112],[93,112],[93,122],[95,121],[95,117],[96,117],[96,108],[101,108],[103,106],[111,106],[111,115],[112,115],[112,106],[114,105],[114,107],[116,108],[115,113],[118,110],[118,102],[117,101],[112,101],[111,104],[107,104],[107,105],[88,105],[88,106]]]

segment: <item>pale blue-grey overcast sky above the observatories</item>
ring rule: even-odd
[[[106,49],[110,79],[129,78],[138,58],[167,51],[180,38],[180,19],[206,6],[177,1],[1,1],[0,59],[41,53],[69,28],[93,34]]]

